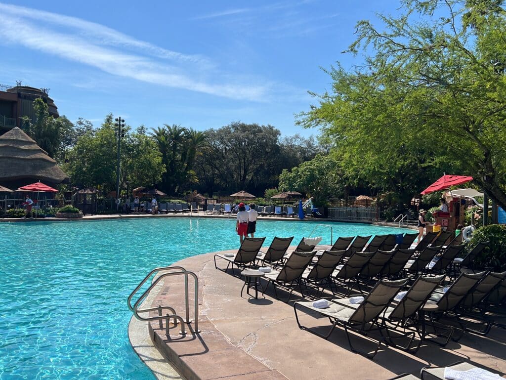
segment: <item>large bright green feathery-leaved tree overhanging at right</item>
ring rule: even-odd
[[[365,65],[333,67],[332,92],[299,122],[322,128],[350,178],[397,182],[416,164],[426,185],[445,170],[469,174],[506,207],[502,4],[405,0],[399,18],[379,16],[385,30],[359,22],[349,52],[363,46]]]

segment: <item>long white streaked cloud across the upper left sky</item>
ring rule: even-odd
[[[39,23],[36,23],[37,21]],[[77,29],[86,35],[55,30],[56,26]],[[78,18],[2,3],[1,43],[21,45],[89,65],[111,75],[166,87],[253,101],[265,100],[268,92],[266,85],[250,85],[229,77],[220,78],[214,72],[204,72],[201,64],[205,60],[198,56],[162,49]],[[124,47],[140,49],[144,54],[124,52]],[[165,60],[157,61],[153,56],[169,59],[171,64]],[[205,79],[206,76],[213,79]],[[228,82],[225,82],[225,79],[228,79]]]

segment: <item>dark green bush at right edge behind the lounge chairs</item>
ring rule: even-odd
[[[493,270],[506,270],[506,226],[491,224],[478,228],[469,242],[470,249],[482,241],[490,241],[490,244],[476,258],[476,264]]]

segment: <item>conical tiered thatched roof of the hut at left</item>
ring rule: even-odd
[[[0,182],[17,188],[36,181],[55,185],[69,178],[45,150],[15,127],[0,136]]]

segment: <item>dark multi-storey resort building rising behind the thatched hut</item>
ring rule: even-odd
[[[21,128],[22,116],[28,116],[34,122],[33,101],[37,98],[41,98],[47,103],[51,116],[60,116],[58,107],[48,96],[47,89],[0,85],[0,135],[15,126]]]

